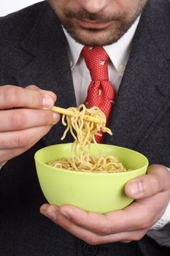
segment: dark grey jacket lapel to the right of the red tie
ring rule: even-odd
[[[157,6],[150,1],[142,13],[112,111],[113,136],[107,135],[105,143],[138,148],[169,108],[169,3],[161,1]]]

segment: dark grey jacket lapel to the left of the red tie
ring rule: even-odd
[[[20,43],[20,48],[26,51],[27,56],[16,74],[18,84],[26,86],[32,83],[53,91],[58,97],[55,105],[62,108],[76,106],[66,39],[59,20],[47,3],[34,28]],[[60,121],[43,138],[45,145],[61,143],[63,129]],[[70,140],[72,138],[68,135],[64,142]]]

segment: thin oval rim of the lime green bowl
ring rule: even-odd
[[[140,153],[139,151],[134,151],[133,149],[131,148],[125,148],[125,147],[122,147],[122,146],[115,146],[115,145],[110,145],[110,144],[104,144],[104,143],[100,143],[99,146],[101,147],[104,147],[104,146],[114,146],[115,148],[123,148],[123,150],[127,150],[127,151],[133,151],[135,152],[135,154],[139,154],[140,156],[142,156],[145,160],[146,160],[146,164],[143,165],[142,167],[136,169],[136,170],[127,170],[125,172],[119,172],[119,173],[95,173],[95,172],[83,172],[83,171],[80,171],[80,170],[66,170],[66,169],[62,169],[62,168],[58,168],[58,167],[53,167],[52,165],[47,165],[47,163],[45,162],[41,162],[37,159],[37,155],[39,154],[40,151],[43,151],[47,148],[53,148],[54,146],[58,146],[58,145],[61,145],[61,144],[64,144],[64,145],[71,145],[72,143],[58,143],[58,144],[53,144],[53,145],[50,145],[50,146],[45,146],[44,148],[40,148],[38,151],[36,151],[36,153],[34,154],[34,159],[35,159],[35,162],[38,162],[40,165],[43,165],[45,167],[48,167],[50,168],[50,170],[53,170],[53,171],[59,171],[59,172],[64,172],[64,173],[75,173],[77,175],[89,175],[89,176],[93,176],[93,175],[97,175],[97,176],[120,176],[120,175],[125,175],[125,174],[128,174],[128,173],[138,173],[140,169],[142,169],[143,167],[147,167],[149,165],[149,160],[147,159],[147,157],[144,156],[144,154]]]

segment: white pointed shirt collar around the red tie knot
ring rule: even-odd
[[[104,46],[104,49],[107,51],[107,54],[109,55],[110,60],[112,61],[112,64],[115,66],[117,71],[123,72],[124,70],[120,70],[120,67],[125,67],[128,61],[128,56],[131,51],[131,42],[134,38],[134,34],[136,31],[136,27],[138,26],[140,19],[140,15],[138,18],[136,18],[135,22],[131,26],[128,31],[123,34],[123,37],[121,37],[117,42],[113,43],[112,45]],[[71,67],[74,68],[74,66],[77,64],[77,61],[80,58],[80,54],[82,51],[82,48],[84,45],[81,45],[79,42],[76,42],[66,31],[66,29],[63,28],[64,34],[66,35],[66,39],[69,46],[69,59]]]

